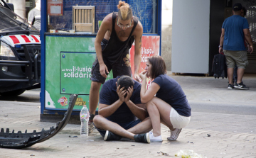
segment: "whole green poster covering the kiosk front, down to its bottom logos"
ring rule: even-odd
[[[95,38],[46,37],[47,110],[68,109],[70,94],[78,94],[74,111],[80,111],[83,105],[89,108],[94,42]],[[106,80],[112,76],[110,72]]]

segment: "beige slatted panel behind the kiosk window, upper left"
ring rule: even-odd
[[[73,6],[73,30],[95,33],[95,6]]]

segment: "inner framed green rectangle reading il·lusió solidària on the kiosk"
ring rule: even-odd
[[[90,94],[95,56],[95,52],[60,52],[60,94]]]

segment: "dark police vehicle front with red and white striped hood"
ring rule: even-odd
[[[39,30],[0,0],[0,95],[17,96],[41,86]]]

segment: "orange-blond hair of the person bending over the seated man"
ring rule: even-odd
[[[125,3],[125,1],[119,1],[117,5],[118,17],[121,18],[122,21],[127,21],[132,18],[132,9],[130,9],[129,4]]]

